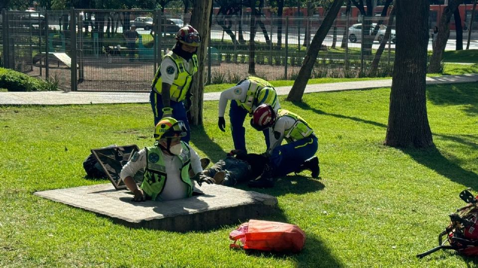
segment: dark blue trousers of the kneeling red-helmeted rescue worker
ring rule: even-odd
[[[315,135],[275,147],[269,158],[274,177],[294,172],[305,160],[314,156],[318,148]]]

